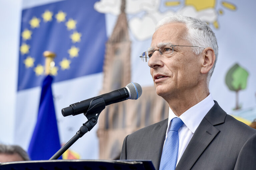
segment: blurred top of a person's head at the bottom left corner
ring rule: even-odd
[[[28,161],[27,152],[18,145],[0,144],[0,162]]]

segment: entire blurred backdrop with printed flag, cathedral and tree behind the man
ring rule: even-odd
[[[63,117],[62,108],[130,82],[143,87],[140,99],[107,106],[62,157],[117,159],[127,134],[168,117],[139,56],[157,22],[171,14],[199,18],[215,32],[219,57],[210,92],[228,114],[250,125],[256,118],[255,6],[253,0],[0,0],[0,143],[28,150],[49,50],[56,54],[52,96],[61,145],[87,121],[83,114]],[[46,119],[40,128],[52,124]],[[53,140],[43,135],[39,145]]]

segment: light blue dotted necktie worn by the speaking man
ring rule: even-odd
[[[179,150],[179,128],[184,124],[180,118],[173,118],[171,128],[162,152],[159,170],[174,170],[176,168]]]

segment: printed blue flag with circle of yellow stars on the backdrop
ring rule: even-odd
[[[66,0],[22,11],[18,91],[41,84],[46,50],[56,53],[54,82],[102,72],[107,36],[95,2]]]

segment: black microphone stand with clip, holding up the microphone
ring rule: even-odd
[[[72,144],[74,144],[80,137],[82,137],[86,132],[90,131],[98,121],[99,114],[105,109],[106,104],[104,99],[98,97],[93,99],[90,103],[89,109],[84,116],[88,119],[87,122],[80,127],[76,134],[64,145],[62,146],[49,160],[58,159]]]

